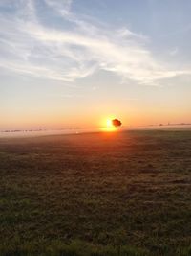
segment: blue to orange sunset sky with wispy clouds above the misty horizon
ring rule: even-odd
[[[190,0],[0,0],[0,129],[191,123]]]

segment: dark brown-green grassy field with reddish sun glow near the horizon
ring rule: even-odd
[[[191,131],[1,139],[0,255],[191,255]]]

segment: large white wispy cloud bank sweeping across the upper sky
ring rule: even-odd
[[[70,29],[42,24],[33,0],[18,0],[11,13],[0,15],[0,67],[35,77],[74,81],[98,70],[115,73],[142,84],[191,74],[160,63],[147,47],[148,38],[128,28],[110,31],[107,26],[82,20],[72,12],[72,0],[44,0]]]

